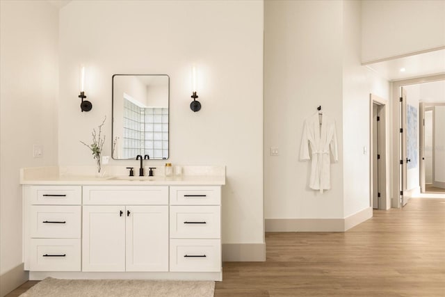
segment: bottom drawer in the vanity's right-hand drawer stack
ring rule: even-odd
[[[170,239],[170,271],[221,271],[220,239]]]

